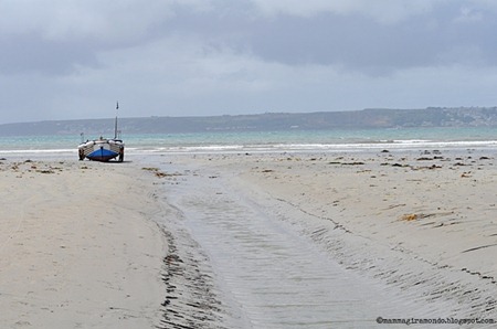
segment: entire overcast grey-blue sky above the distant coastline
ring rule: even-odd
[[[0,124],[496,106],[496,32],[495,0],[0,0]]]

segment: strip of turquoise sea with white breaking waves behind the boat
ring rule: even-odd
[[[1,132],[1,131],[0,131]],[[97,138],[87,136],[87,138]],[[129,134],[126,157],[157,153],[334,152],[378,149],[478,148],[497,150],[497,127],[416,127],[278,131]],[[0,158],[77,158],[80,135],[3,136]]]

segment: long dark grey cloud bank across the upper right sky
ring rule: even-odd
[[[287,65],[336,65],[389,73],[459,63],[496,64],[495,43],[489,42],[497,28],[496,13],[477,12],[476,8],[473,12],[478,13],[479,20],[464,22],[459,19],[466,8],[464,1],[436,2],[431,11],[395,24],[357,12],[266,17],[257,14],[250,2],[222,3],[223,10],[219,11],[177,8],[176,17],[162,28],[167,33],[195,35],[211,46],[228,45],[263,61]],[[476,51],[457,55],[461,49]]]

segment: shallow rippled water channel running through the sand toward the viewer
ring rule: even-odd
[[[189,174],[167,198],[209,255],[240,328],[369,328],[391,310],[379,287],[220,181]]]

